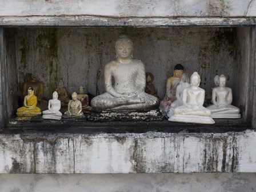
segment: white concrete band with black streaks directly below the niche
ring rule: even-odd
[[[1,134],[0,173],[256,172],[256,133]]]

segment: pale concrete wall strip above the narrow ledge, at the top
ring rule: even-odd
[[[102,15],[107,17],[255,17],[254,0],[69,0],[0,2],[0,16]]]

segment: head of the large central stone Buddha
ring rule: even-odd
[[[133,58],[133,42],[127,35],[120,35],[115,42],[115,52],[118,59]]]

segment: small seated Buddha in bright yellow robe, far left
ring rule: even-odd
[[[17,109],[17,116],[34,117],[37,115],[41,115],[41,109],[37,107],[37,96],[34,95],[33,87],[29,87],[24,98],[23,107]]]

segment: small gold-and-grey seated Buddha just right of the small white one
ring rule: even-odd
[[[82,112],[82,103],[77,99],[77,93],[73,93],[72,100],[69,101],[67,111],[62,116],[63,118],[82,118],[84,117]]]

